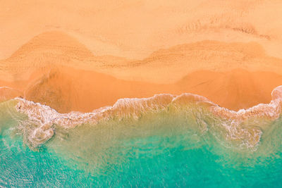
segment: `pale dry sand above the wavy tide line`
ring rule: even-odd
[[[0,59],[35,35],[61,30],[96,56],[146,58],[202,40],[258,42],[282,57],[280,0],[1,1]]]

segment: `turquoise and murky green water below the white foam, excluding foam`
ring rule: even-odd
[[[282,187],[281,119],[256,149],[180,113],[57,128],[31,148],[12,106],[0,106],[1,187]]]

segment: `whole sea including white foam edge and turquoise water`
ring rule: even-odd
[[[190,94],[69,114],[4,101],[0,187],[282,187],[278,94],[239,112]]]

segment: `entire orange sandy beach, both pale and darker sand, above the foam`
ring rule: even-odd
[[[282,84],[279,8],[280,1],[6,1],[0,100],[23,96],[63,113],[160,93],[200,94],[232,110],[268,103]]]

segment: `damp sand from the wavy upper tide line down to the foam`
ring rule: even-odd
[[[1,100],[21,96],[67,113],[90,112],[123,98],[186,92],[238,111],[269,103],[282,84],[281,62],[259,44],[222,42],[175,46],[140,61],[94,56],[73,37],[47,32],[1,61]]]

